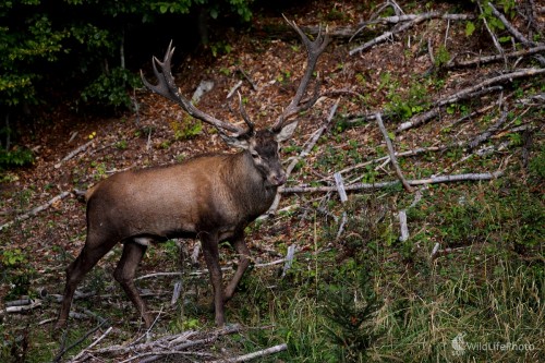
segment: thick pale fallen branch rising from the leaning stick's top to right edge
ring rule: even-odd
[[[476,97],[476,95],[481,95],[481,93],[483,90],[485,90],[484,88],[486,88],[486,87],[491,87],[487,89],[487,92],[489,92],[491,89],[493,89],[492,88],[493,85],[497,85],[497,84],[500,84],[504,82],[512,82],[513,80],[517,80],[517,78],[541,75],[544,73],[545,73],[545,69],[531,68],[531,69],[522,69],[522,70],[519,70],[516,72],[501,74],[501,75],[498,75],[496,77],[485,80],[485,81],[483,81],[474,86],[459,90],[453,95],[450,95],[448,97],[445,97],[445,98],[438,100],[435,105],[436,105],[436,108],[439,108],[439,107],[443,107],[445,105],[455,104],[455,102],[458,102],[462,99],[473,98],[473,97]],[[494,88],[494,89],[497,89],[497,88]],[[403,122],[402,124],[400,124],[396,131],[401,132],[401,131],[405,131],[405,130],[419,126],[419,125],[423,124],[424,122],[431,120],[435,116],[437,116],[437,113],[438,113],[438,110],[433,109],[433,110],[427,111],[423,114],[419,114],[417,117],[413,118],[411,121]]]

